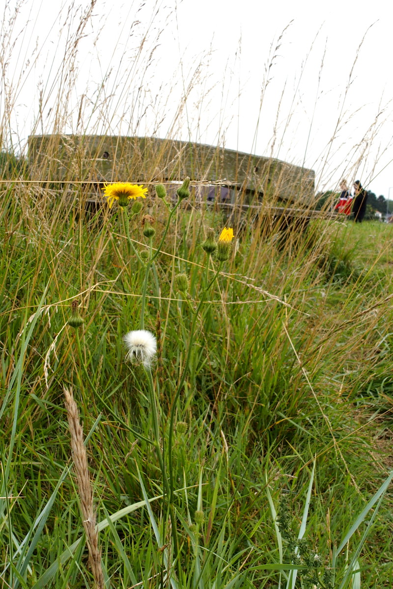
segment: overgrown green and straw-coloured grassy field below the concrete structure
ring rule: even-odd
[[[134,215],[1,190],[1,587],[100,586],[89,485],[106,587],[391,587],[392,227],[259,219],[220,264],[223,214],[153,187]],[[123,343],[143,305],[151,380]]]

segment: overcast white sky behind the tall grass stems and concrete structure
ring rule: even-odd
[[[22,148],[60,110],[65,133],[224,144],[311,167],[319,189],[344,176],[393,198],[386,1],[3,4],[0,100]]]

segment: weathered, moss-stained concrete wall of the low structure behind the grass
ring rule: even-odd
[[[310,206],[313,170],[284,161],[212,145],[150,137],[32,135],[32,176],[61,182],[222,181],[237,186],[245,201],[289,201]]]

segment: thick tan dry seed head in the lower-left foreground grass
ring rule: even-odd
[[[98,548],[98,531],[95,528],[95,512],[93,508],[93,489],[91,487],[86,448],[83,443],[83,430],[79,421],[77,403],[72,391],[64,387],[65,408],[67,409],[68,425],[71,434],[72,458],[77,475],[78,489],[83,516],[83,527],[86,532],[89,565],[93,573],[95,587],[104,589],[104,575],[101,566],[101,550]]]

